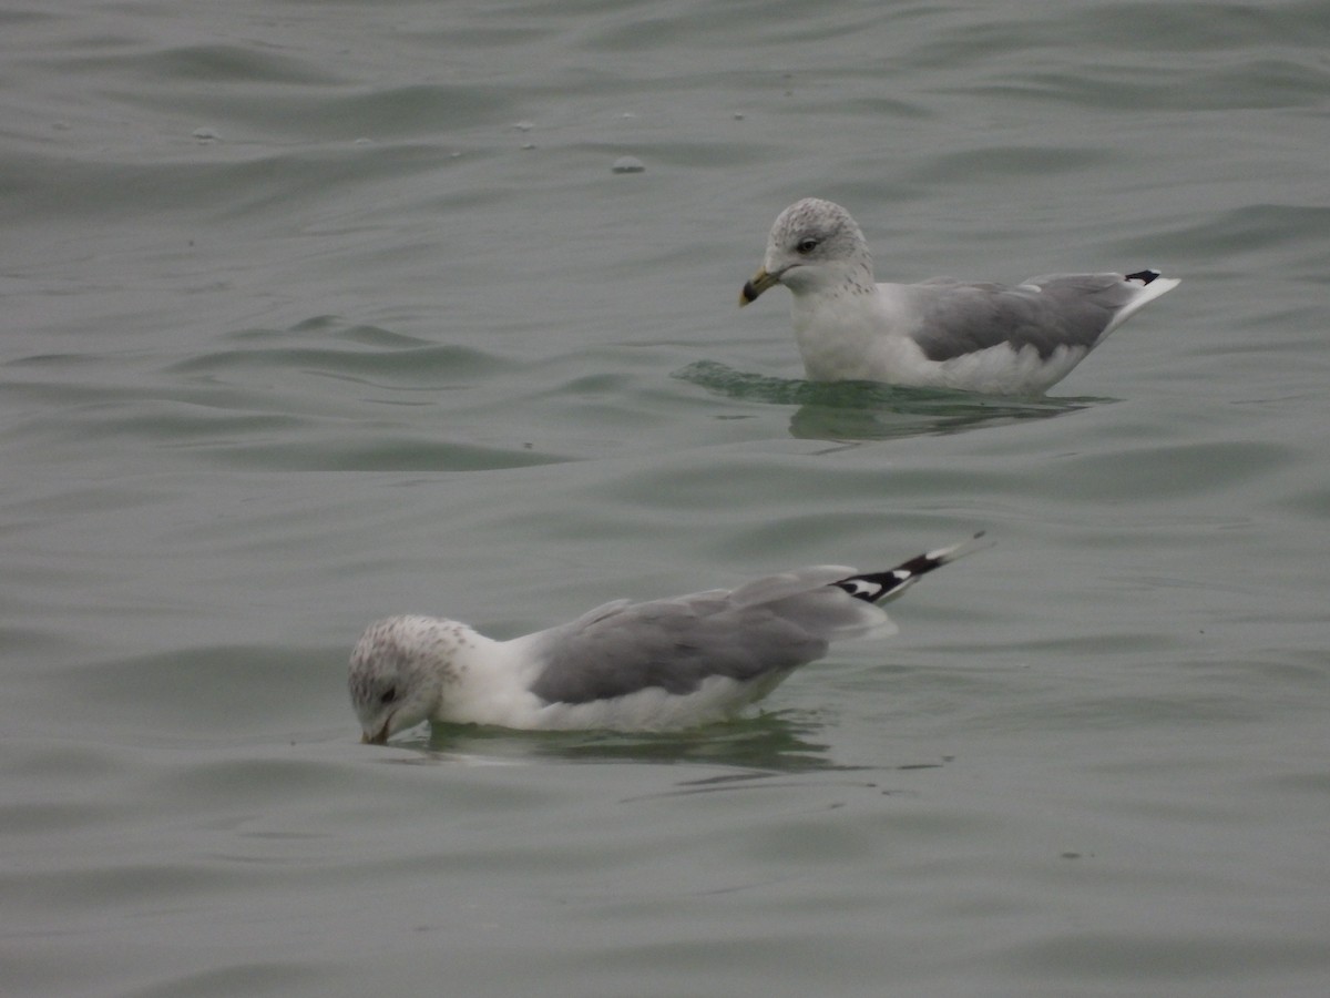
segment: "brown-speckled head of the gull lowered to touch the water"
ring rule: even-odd
[[[435,713],[467,631],[426,616],[388,617],[364,629],[347,677],[362,741],[382,745]]]

